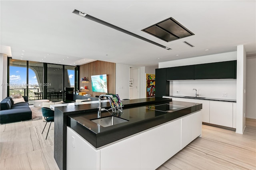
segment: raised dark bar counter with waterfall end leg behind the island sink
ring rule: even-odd
[[[134,99],[122,101],[123,109],[150,105],[155,103],[170,102],[172,99],[152,97],[145,99]],[[54,159],[60,169],[66,170],[66,144],[68,116],[76,114],[97,113],[98,103],[61,106],[54,108]],[[109,109],[109,102],[102,103],[102,108]]]

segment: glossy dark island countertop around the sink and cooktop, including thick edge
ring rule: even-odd
[[[172,108],[174,107],[174,109]],[[170,110],[172,108],[173,110]],[[202,104],[181,101],[163,101],[162,103],[147,103],[144,106],[135,106],[122,110],[122,114],[114,115],[127,122],[109,127],[99,126],[91,119],[97,118],[97,111],[68,116],[68,126],[78,132],[95,148],[115,142],[132,134],[178,119],[202,109]],[[102,117],[111,116],[102,112]]]

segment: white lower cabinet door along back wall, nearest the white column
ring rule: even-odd
[[[210,123],[233,127],[233,103],[210,101]]]

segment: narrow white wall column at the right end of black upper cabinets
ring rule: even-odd
[[[244,45],[237,46],[236,70],[236,133],[243,134],[246,112],[246,51]]]

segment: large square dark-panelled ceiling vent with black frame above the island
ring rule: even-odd
[[[145,28],[142,31],[166,42],[195,35],[172,17]]]

